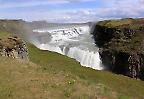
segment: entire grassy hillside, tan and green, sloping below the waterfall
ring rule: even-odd
[[[0,99],[144,98],[143,81],[82,67],[31,44],[28,49],[30,62],[0,57]]]

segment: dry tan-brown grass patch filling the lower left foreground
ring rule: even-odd
[[[114,99],[116,92],[63,71],[0,57],[0,99]],[[112,94],[112,96],[111,96]]]

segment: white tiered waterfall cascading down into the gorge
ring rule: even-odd
[[[33,30],[37,43],[41,50],[54,51],[68,57],[74,58],[82,66],[96,70],[104,69],[98,47],[95,45],[90,34],[89,25],[75,25],[68,27],[55,27]]]

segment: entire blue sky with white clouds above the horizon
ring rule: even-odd
[[[144,0],[0,0],[0,19],[89,22],[144,17]]]

